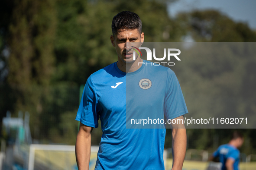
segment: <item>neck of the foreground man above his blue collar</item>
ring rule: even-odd
[[[138,57],[133,63],[124,63],[120,59],[118,59],[117,67],[122,72],[135,72],[138,70],[142,65],[139,65],[139,62],[143,62],[143,60]]]

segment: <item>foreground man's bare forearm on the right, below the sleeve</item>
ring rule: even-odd
[[[183,116],[179,116],[177,119],[182,119]],[[172,170],[181,170],[185,159],[187,148],[187,134],[184,124],[172,124],[172,155],[173,164]]]

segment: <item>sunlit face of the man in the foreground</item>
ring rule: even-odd
[[[125,63],[132,63],[133,61],[133,51],[127,49],[126,42],[143,42],[144,33],[139,33],[138,29],[129,30],[117,30],[117,35],[111,35],[110,37],[113,47],[116,48],[118,61]],[[126,53],[127,52],[127,53]]]

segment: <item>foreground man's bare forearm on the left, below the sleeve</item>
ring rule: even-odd
[[[92,129],[92,127],[86,126],[80,122],[75,143],[75,157],[78,164],[78,170],[89,170]]]

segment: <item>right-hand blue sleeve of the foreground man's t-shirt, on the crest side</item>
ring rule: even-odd
[[[174,119],[188,113],[181,86],[171,69],[167,72],[164,112],[167,119]]]

